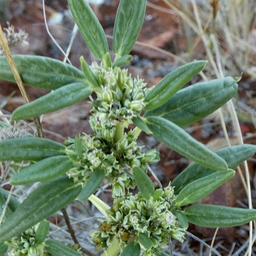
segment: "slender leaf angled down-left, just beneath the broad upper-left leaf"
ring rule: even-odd
[[[54,90],[39,99],[15,109],[13,120],[28,119],[71,106],[92,94],[86,83],[73,83]]]

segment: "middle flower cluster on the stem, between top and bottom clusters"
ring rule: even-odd
[[[121,140],[110,143],[88,134],[81,136],[83,155],[76,154],[74,140],[68,140],[68,154],[74,161],[74,167],[67,175],[75,182],[86,184],[92,172],[97,168],[103,168],[106,177],[113,186],[112,195],[124,196],[125,189],[135,187],[132,177],[132,169],[140,166],[147,172],[147,164],[159,161],[159,154],[156,150],[149,150],[141,153],[141,148],[134,138],[134,130],[125,132]],[[73,156],[72,156],[73,155]]]

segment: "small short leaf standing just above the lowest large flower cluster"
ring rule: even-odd
[[[132,175],[143,198],[149,200],[150,196],[153,196],[155,191],[152,180],[150,180],[147,173],[138,166],[133,168]]]

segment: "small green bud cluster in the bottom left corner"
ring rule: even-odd
[[[8,256],[42,256],[49,255],[44,252],[44,243],[36,241],[36,230],[40,223],[23,232],[19,237],[13,237],[5,243],[13,249]]]

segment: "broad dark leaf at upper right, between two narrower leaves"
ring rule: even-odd
[[[159,108],[147,111],[144,117],[161,116],[184,127],[223,106],[236,94],[237,88],[232,77],[193,84],[175,93]]]

